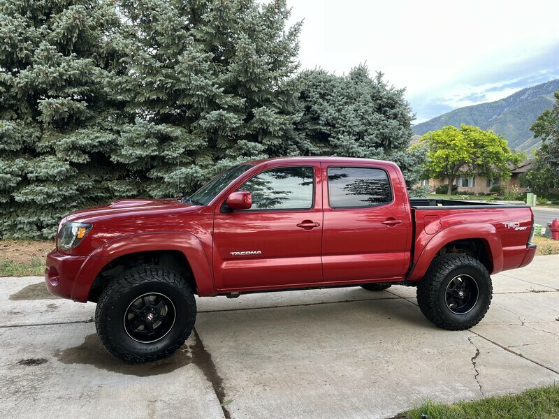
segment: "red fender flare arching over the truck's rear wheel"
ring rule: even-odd
[[[416,240],[416,244],[430,237],[423,231]],[[437,253],[445,245],[456,240],[475,240],[481,239],[488,245],[489,258],[493,260],[493,270],[491,274],[501,272],[503,266],[502,243],[497,230],[492,224],[488,223],[466,223],[458,226],[451,226],[441,230],[432,236],[423,247],[412,271],[407,275],[409,281],[419,281],[426,274],[431,262]]]

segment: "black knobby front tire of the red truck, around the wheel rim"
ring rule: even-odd
[[[173,322],[167,323],[169,330],[156,341],[137,341],[126,328],[125,315],[133,302],[144,295],[161,295],[173,310]],[[187,281],[160,267],[143,266],[123,272],[103,290],[95,310],[95,327],[103,346],[132,364],[160,360],[175,352],[189,337],[194,321],[196,300]]]

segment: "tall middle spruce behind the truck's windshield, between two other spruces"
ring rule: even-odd
[[[298,154],[298,32],[285,1],[124,0],[135,113],[113,159],[154,197],[238,161]]]

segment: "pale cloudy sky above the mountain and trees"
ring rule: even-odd
[[[559,78],[559,0],[288,0],[302,68],[372,74],[407,89],[423,122]]]

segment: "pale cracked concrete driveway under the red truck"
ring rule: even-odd
[[[94,304],[41,278],[1,278],[5,418],[386,418],[559,381],[559,256],[493,276],[479,325],[447,332],[414,288],[293,291],[198,300],[172,357],[125,365],[104,351]],[[50,298],[50,299],[49,299]]]

